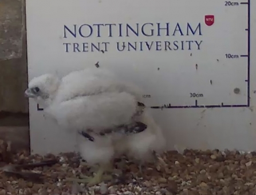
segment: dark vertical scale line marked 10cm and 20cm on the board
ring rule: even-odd
[[[250,0],[248,0],[248,58],[247,58],[247,63],[248,63],[248,67],[247,67],[247,106],[250,106],[250,30],[251,30],[251,26],[250,26]]]

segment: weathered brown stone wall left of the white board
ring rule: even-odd
[[[25,0],[0,1],[0,139],[28,147]],[[21,144],[21,145],[19,145]]]

